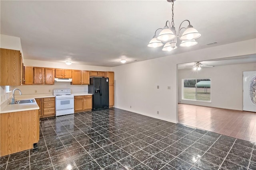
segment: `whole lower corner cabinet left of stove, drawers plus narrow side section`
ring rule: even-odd
[[[40,118],[55,116],[55,98],[37,98]]]

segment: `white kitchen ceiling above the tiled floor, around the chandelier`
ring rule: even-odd
[[[166,0],[0,3],[1,34],[20,37],[24,59],[112,67],[122,58],[132,63],[256,38],[254,0],[176,0],[176,30],[190,20],[202,36],[198,45],[171,52],[147,47],[171,20]]]

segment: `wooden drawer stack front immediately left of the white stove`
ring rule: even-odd
[[[55,98],[43,98],[41,104],[41,117],[52,117],[55,116]]]

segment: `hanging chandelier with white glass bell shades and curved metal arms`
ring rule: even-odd
[[[172,2],[172,27],[170,24],[170,21],[166,21],[166,24],[164,28],[158,28],[158,30],[162,30],[158,36],[156,36],[156,31],[154,37],[151,39],[151,41],[148,43],[148,47],[161,47],[164,45],[162,51],[172,51],[174,49],[177,49],[176,43],[177,43],[177,37],[182,41],[180,43],[180,47],[192,47],[197,44],[196,40],[201,36],[200,33],[196,29],[193,28],[192,25],[190,25],[189,20],[184,20],[182,23],[185,21],[188,21],[188,26],[181,27],[182,23],[180,23],[180,27],[178,29],[178,34],[176,34],[176,30],[174,27],[174,19],[173,19],[173,5],[175,0],[167,0],[168,2]],[[169,26],[167,25],[169,23]],[[184,32],[181,35],[181,30],[185,29]]]

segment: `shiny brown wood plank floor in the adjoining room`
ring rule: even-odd
[[[215,107],[178,104],[181,124],[256,142],[256,113]]]

